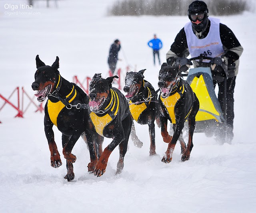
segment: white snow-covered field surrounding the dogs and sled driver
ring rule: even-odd
[[[108,17],[106,8],[112,1],[61,0],[58,8],[54,1],[50,8],[45,1],[35,1],[32,9],[22,9],[25,0],[1,0],[0,94],[8,97],[15,87],[24,86],[34,95],[31,84],[37,54],[47,65],[58,55],[60,74],[69,81],[74,75],[81,81],[94,73],[107,77],[108,51],[116,38],[122,45],[118,67],[147,69],[145,79],[157,88],[160,66],[153,66],[147,41],[154,33],[162,39],[164,62],[188,17]],[[161,159],[167,144],[160,129],[156,128],[157,155],[150,157],[148,127],[136,124],[144,146],[138,149],[129,141],[122,174],[115,175],[118,148],[102,177],[89,174],[89,152],[79,139],[72,151],[77,157],[75,179],[67,182],[60,132],[54,128],[63,165],[54,169],[44,134],[44,114],[35,113],[31,105],[24,118],[14,118],[15,110],[5,106],[0,111],[0,212],[256,212],[256,14],[220,18],[244,47],[234,94],[232,144],[219,144],[196,133],[189,161],[181,162],[177,144],[172,162],[164,164]],[[0,100],[0,106],[3,103]],[[109,143],[105,139],[104,147]]]

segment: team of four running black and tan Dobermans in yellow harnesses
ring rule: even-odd
[[[188,83],[180,79],[179,67],[162,64],[158,76],[159,98],[158,91],[144,80],[145,69],[138,73],[126,73],[124,92],[127,94],[124,96],[112,87],[113,80],[118,76],[104,79],[101,74],[93,76],[89,94],[86,95],[80,87],[60,75],[58,56],[52,66],[48,66],[37,55],[36,68],[32,89],[37,91],[35,96],[39,102],[48,97],[44,108],[44,131],[50,149],[51,166],[58,168],[62,165],[52,130],[55,125],[62,132],[62,154],[67,168],[64,178],[68,181],[74,179],[73,163],[76,156],[71,152],[80,136],[88,144],[90,153],[88,172],[102,176],[110,154],[119,146],[116,174],[120,174],[124,168],[129,136],[135,146],[140,148],[143,145],[136,136],[134,120],[139,124],[148,124],[150,155],[156,154],[156,120],[161,127],[162,138],[168,144],[162,162],[172,161],[177,140],[181,146],[181,160],[189,160],[199,101]],[[168,134],[168,120],[173,124],[173,136]],[[185,120],[188,120],[189,126],[187,145],[182,137]],[[104,137],[112,138],[112,142],[103,150]]]

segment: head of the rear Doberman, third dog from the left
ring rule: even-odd
[[[144,71],[146,69],[142,69],[136,72],[128,72],[125,77],[125,86],[124,92],[126,94],[126,99],[130,100],[132,97],[140,91],[141,87],[143,87],[143,79],[144,79]]]

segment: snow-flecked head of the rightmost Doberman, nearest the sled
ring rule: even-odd
[[[169,66],[167,63],[163,63],[159,71],[158,80],[161,96],[166,98],[170,95],[172,89],[180,80],[179,71],[177,68]]]

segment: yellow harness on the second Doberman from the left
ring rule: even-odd
[[[111,92],[111,100],[107,107],[104,108],[104,115],[96,114],[95,112],[90,113],[90,118],[92,123],[96,129],[96,132],[103,135],[104,128],[116,117],[119,109],[119,97],[116,91],[110,89]]]

